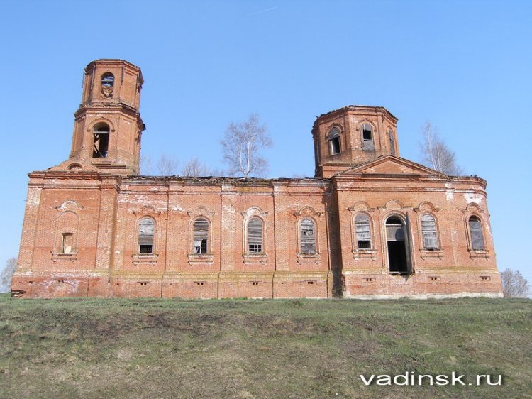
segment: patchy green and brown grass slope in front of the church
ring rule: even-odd
[[[21,300],[1,398],[532,398],[531,300]],[[502,386],[365,386],[360,374]]]

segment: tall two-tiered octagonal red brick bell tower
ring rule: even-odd
[[[69,169],[138,174],[145,129],[139,113],[143,82],[140,68],[127,61],[96,60],[87,65],[82,103],[74,114]]]

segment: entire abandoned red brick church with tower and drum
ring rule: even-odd
[[[29,174],[13,296],[501,296],[486,181],[399,157],[397,119],[312,128],[314,178],[143,176],[140,68],[85,68],[68,160]]]

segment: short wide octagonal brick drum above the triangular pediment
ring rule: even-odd
[[[382,155],[399,156],[397,118],[382,106],[350,105],[318,116],[312,128],[316,177],[331,177]]]

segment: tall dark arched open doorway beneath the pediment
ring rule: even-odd
[[[386,221],[386,240],[388,246],[388,266],[392,274],[409,274],[410,265],[407,256],[407,243],[404,222],[399,217],[389,217]]]

